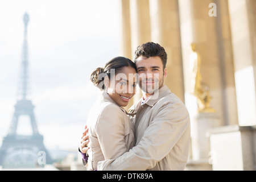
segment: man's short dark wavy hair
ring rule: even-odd
[[[147,42],[137,47],[135,51],[135,63],[139,56],[143,57],[154,57],[159,56],[163,63],[163,69],[166,68],[167,63],[167,53],[162,46],[158,43]]]

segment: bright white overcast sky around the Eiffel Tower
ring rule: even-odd
[[[24,23],[28,22],[30,99],[44,144],[77,150],[98,89],[94,68],[120,51],[118,0],[0,0],[0,138],[10,127],[18,93]],[[22,117],[20,134],[30,133]],[[0,142],[1,144],[1,142]]]

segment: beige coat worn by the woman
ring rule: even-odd
[[[100,99],[89,112],[88,169],[97,169],[101,160],[115,159],[135,145],[134,126],[125,109],[118,106],[108,93],[102,92]]]

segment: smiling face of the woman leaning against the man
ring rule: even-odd
[[[137,72],[132,67],[123,67],[111,79],[104,79],[107,93],[119,106],[127,106],[137,86]]]

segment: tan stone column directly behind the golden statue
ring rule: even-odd
[[[212,96],[210,105],[216,110],[216,114],[222,118],[224,105],[222,102],[222,73],[218,51],[217,23],[215,17],[208,15],[210,3],[212,3],[211,0],[179,1],[185,97],[191,97],[192,92],[192,76],[191,71],[189,71],[189,57],[192,51],[189,47],[191,43],[195,43],[197,52],[201,56],[201,81],[209,85],[210,96]],[[196,105],[193,104],[190,107],[192,107],[193,113],[196,113]],[[223,119],[221,119],[222,123],[224,123]]]

